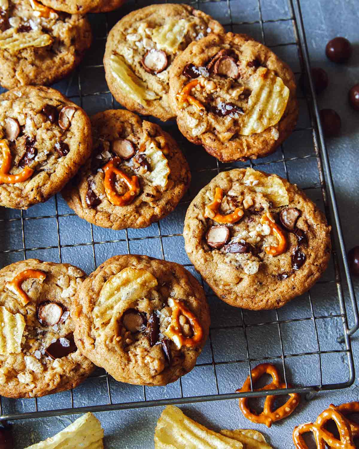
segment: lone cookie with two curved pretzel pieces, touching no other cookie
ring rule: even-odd
[[[224,302],[278,308],[327,268],[330,226],[296,185],[252,168],[219,173],[188,207],[189,259]]]

